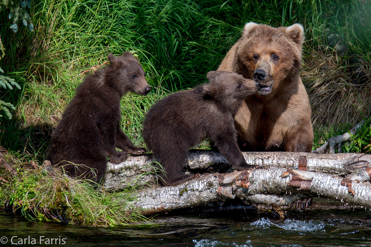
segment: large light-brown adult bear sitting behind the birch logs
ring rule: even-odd
[[[243,151],[311,152],[313,129],[308,95],[299,76],[304,30],[246,23],[241,38],[218,70],[259,83],[234,117]]]

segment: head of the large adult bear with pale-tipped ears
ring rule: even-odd
[[[297,80],[304,29],[301,24],[273,28],[246,23],[237,48],[237,73],[259,84],[260,96],[274,94]],[[272,95],[273,96],[273,95]]]

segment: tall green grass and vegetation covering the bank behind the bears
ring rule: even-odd
[[[86,70],[106,62],[109,52],[133,52],[154,89],[146,97],[131,94],[122,100],[122,127],[142,146],[141,121],[148,107],[172,91],[204,82],[247,21],[275,27],[303,24],[302,78],[312,104],[317,146],[370,112],[370,83],[352,83],[344,58],[336,56],[326,41],[329,33],[341,36],[369,64],[371,5],[367,1],[27,2],[33,31],[27,19],[27,27],[18,21],[16,33],[10,28],[17,23],[14,17],[9,19],[11,9],[0,3],[5,51],[0,67],[20,85],[12,90],[0,87],[0,100],[15,107],[12,119],[0,112],[0,146],[9,151],[6,158],[15,166],[30,160],[42,163],[53,126],[75,87],[89,73]],[[370,152],[370,136],[366,124],[343,150]]]

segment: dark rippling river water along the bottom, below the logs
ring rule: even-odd
[[[0,213],[0,223],[0,246],[371,246],[371,211],[364,209],[293,211],[285,220],[254,210],[178,213],[106,228],[27,221]]]

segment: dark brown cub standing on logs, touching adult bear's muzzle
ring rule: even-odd
[[[237,145],[233,117],[244,98],[257,92],[255,81],[226,71],[210,71],[207,79],[209,84],[159,100],[145,117],[144,141],[164,168],[164,186],[175,186],[193,177],[181,171],[189,148],[206,138],[234,169],[254,167],[246,163]]]

